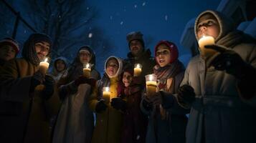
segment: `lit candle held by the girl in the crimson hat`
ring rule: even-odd
[[[148,74],[146,77],[146,94],[151,97],[156,93],[156,74]]]

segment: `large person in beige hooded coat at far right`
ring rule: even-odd
[[[189,61],[178,92],[181,106],[191,107],[187,143],[256,142],[256,43],[235,29],[218,11],[204,11],[194,25],[196,39],[212,36],[212,54]]]

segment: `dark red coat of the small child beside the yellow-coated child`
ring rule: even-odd
[[[122,143],[146,142],[147,117],[141,112],[140,103],[142,89],[138,84],[124,87],[121,97],[126,101],[123,117]]]

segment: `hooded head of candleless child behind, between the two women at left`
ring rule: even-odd
[[[65,57],[58,57],[53,61],[52,77],[55,82],[58,82],[60,77],[65,73],[67,69],[67,59]]]

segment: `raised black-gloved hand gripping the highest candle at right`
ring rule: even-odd
[[[241,56],[237,54],[237,52],[217,44],[207,45],[204,47],[207,49],[214,49],[220,53],[210,61],[209,66],[212,65],[219,71],[225,70],[228,74],[232,74],[238,79],[241,79],[244,76],[245,73],[243,70],[246,63],[243,61]]]

